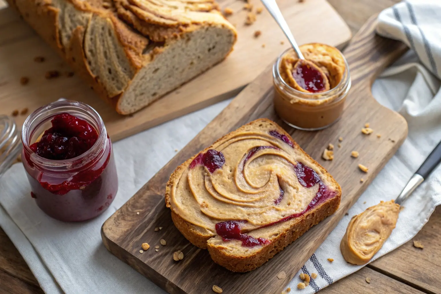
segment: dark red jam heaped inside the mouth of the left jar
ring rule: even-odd
[[[67,160],[92,148],[97,131],[85,120],[68,113],[56,115],[52,127],[45,130],[41,140],[30,145],[38,156],[50,160]]]

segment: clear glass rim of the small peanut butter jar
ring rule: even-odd
[[[309,44],[314,44],[314,43],[309,43]],[[305,44],[308,45],[308,44]],[[335,48],[335,47],[334,47]],[[344,72],[343,72],[343,78],[340,80],[340,82],[333,87],[332,89],[329,89],[325,92],[319,92],[319,93],[308,93],[308,92],[302,92],[299,91],[297,89],[292,88],[291,86],[289,86],[284,79],[281,77],[280,75],[280,61],[282,60],[282,57],[288,53],[289,51],[292,51],[292,48],[287,48],[286,50],[284,50],[284,52],[282,52],[278,57],[276,62],[274,63],[273,66],[273,78],[277,78],[277,80],[282,83],[282,85],[284,87],[286,87],[290,92],[292,92],[293,95],[299,95],[299,96],[303,96],[303,97],[296,97],[296,99],[299,100],[306,100],[306,101],[322,101],[322,100],[328,100],[329,96],[335,95],[337,94],[339,91],[344,91],[344,89],[348,88],[348,85],[351,84],[351,74],[349,71],[349,64],[348,61],[346,60],[346,58],[344,57],[343,53],[335,48],[340,55],[343,57],[344,60]],[[314,96],[320,96],[319,98],[314,98]],[[310,98],[309,98],[310,97]]]

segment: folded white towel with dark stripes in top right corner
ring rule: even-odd
[[[441,1],[407,0],[378,16],[377,33],[404,42],[441,78]]]

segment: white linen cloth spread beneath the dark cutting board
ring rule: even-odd
[[[415,11],[421,11],[415,8],[417,3],[410,3]],[[397,7],[399,5],[403,4]],[[406,7],[407,4],[404,5]],[[388,10],[380,15],[379,26],[385,26],[386,21],[382,19],[387,19],[387,15]],[[441,18],[437,21],[441,22]],[[418,49],[416,52],[421,54]],[[434,56],[434,60],[439,60],[440,54]],[[339,249],[351,216],[380,200],[396,198],[441,139],[440,82],[415,60],[415,55],[407,54],[396,66],[385,71],[373,86],[374,96],[380,103],[400,112],[407,119],[408,138],[349,210],[349,215],[340,221],[300,270],[318,274],[317,279],[311,280],[310,286],[302,293],[314,293],[361,268],[347,264]],[[108,210],[94,220],[62,223],[51,219],[37,208],[30,197],[30,186],[22,165],[15,164],[7,171],[0,179],[0,226],[19,249],[46,293],[165,293],[108,253],[101,242],[100,228],[117,208],[176,154],[175,149],[183,148],[228,102],[215,104],[116,142],[114,151],[120,189]],[[375,129],[375,126],[372,127]],[[441,167],[438,167],[404,202],[405,208],[400,212],[396,229],[374,259],[415,236],[435,206],[441,203],[440,194]],[[327,258],[333,258],[333,263]],[[288,287],[295,288],[299,282],[299,275],[296,275]]]

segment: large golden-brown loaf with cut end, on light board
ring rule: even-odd
[[[7,0],[120,114],[223,60],[237,38],[214,0]]]

